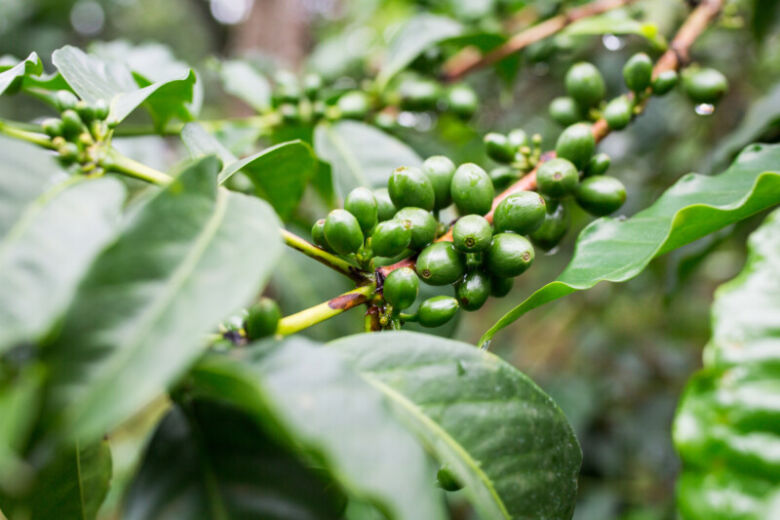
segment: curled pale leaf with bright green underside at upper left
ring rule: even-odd
[[[193,101],[196,78],[192,70],[141,87],[123,63],[103,60],[69,45],[54,51],[52,62],[82,99],[109,103],[110,123],[120,123],[144,103],[158,126],[172,117],[191,118],[186,107]]]

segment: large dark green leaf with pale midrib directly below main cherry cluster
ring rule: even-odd
[[[571,518],[580,447],[563,412],[525,375],[427,334],[361,334],[329,346],[394,402],[481,518]]]

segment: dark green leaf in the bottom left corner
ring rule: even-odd
[[[8,518],[90,520],[97,516],[111,481],[108,442],[75,444],[36,468],[30,481],[17,482],[14,494],[0,493]]]

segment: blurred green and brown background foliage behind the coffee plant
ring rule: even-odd
[[[117,39],[135,45],[160,43],[198,69],[206,95],[202,117],[222,118],[252,112],[221,88],[217,64],[227,57],[245,57],[264,70],[276,66],[315,70],[329,80],[356,85],[375,74],[383,49],[416,12],[450,16],[475,31],[507,33],[576,3],[3,0],[0,55],[22,57],[35,50],[47,60],[51,51],[68,43],[82,47]],[[697,115],[675,92],[654,99],[636,124],[603,142],[601,150],[613,159],[612,174],[628,188],[622,214],[648,206],[689,171],[722,171],[746,142],[780,138],[778,10],[775,0],[731,2],[729,16],[694,47],[695,61],[719,68],[730,80],[730,93],[713,114]],[[755,16],[757,12],[762,15]],[[644,0],[630,13],[668,37],[685,15],[686,5]],[[522,127],[540,133],[544,147],[550,148],[558,128],[547,116],[547,105],[563,94],[568,66],[579,59],[594,62],[605,75],[608,91],[616,94],[622,86],[622,64],[638,50],[652,48],[638,36],[552,38],[529,48],[509,79],[495,70],[467,78],[482,103],[473,121],[422,114],[402,120],[395,133],[423,157],[444,153],[456,162],[486,167],[493,165],[484,155],[481,136],[489,130]],[[417,65],[425,69],[425,63]],[[34,100],[0,99],[0,112],[17,119],[38,115],[40,109]],[[222,135],[237,153],[262,146],[237,135]],[[118,146],[157,167],[184,156],[180,143],[159,137],[123,139]],[[440,332],[474,343],[504,312],[553,279],[570,258],[577,231],[588,221],[581,210],[572,210],[574,225],[568,237],[553,254],[540,254],[509,297],[491,299],[479,312],[462,313],[455,327]],[[324,211],[316,197],[308,196],[296,224],[305,229]],[[492,349],[547,390],[578,433],[584,464],[577,520],[674,517],[679,469],[670,439],[674,410],[683,384],[700,365],[713,290],[739,271],[745,237],[762,217],[662,257],[629,283],[601,284],[536,310],[496,337]],[[288,256],[271,289],[286,312],[347,289],[344,281],[316,262],[294,253]],[[361,325],[356,312],[320,324],[310,333],[327,340],[358,331]],[[120,466],[121,450],[120,444],[115,452]]]

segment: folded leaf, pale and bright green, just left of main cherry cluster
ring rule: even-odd
[[[283,219],[298,207],[318,168],[314,151],[303,141],[281,143],[239,160],[197,124],[185,126],[182,139],[196,155],[216,152],[222,158],[225,167],[218,177],[220,184],[242,171],[257,194],[268,200]]]

